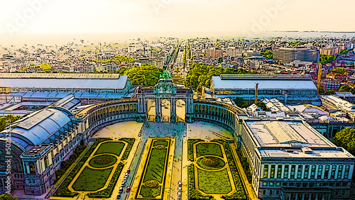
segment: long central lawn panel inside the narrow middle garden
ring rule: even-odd
[[[168,149],[166,148],[162,150],[151,150],[151,157],[149,157],[143,182],[148,180],[157,180],[160,183],[163,182],[164,165],[167,151]]]

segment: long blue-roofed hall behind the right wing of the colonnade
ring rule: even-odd
[[[255,99],[278,99],[285,104],[310,104],[319,101],[317,87],[309,75],[221,74],[212,77],[212,96],[242,97],[249,103]]]

